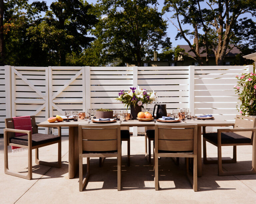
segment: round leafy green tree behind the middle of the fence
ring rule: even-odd
[[[95,5],[100,20],[92,30],[97,38],[92,54],[102,65],[141,66],[160,48],[167,24],[156,5],[157,0],[101,0]]]

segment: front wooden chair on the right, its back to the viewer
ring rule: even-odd
[[[155,189],[159,190],[158,157],[185,157],[186,175],[197,191],[197,125],[155,125]],[[188,158],[194,159],[193,181]]]

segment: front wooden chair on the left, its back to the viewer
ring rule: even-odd
[[[90,157],[117,157],[117,190],[121,190],[120,124],[78,125],[79,135],[79,191],[83,191],[90,176]],[[83,157],[87,158],[87,172],[83,179]]]

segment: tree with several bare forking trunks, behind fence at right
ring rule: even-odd
[[[174,12],[171,18],[177,19],[178,25],[170,21],[178,29],[176,38],[186,40],[200,65],[203,64],[200,48],[206,52],[206,63],[209,55],[214,53],[216,65],[222,65],[225,56],[233,48],[230,44],[237,46],[242,43],[243,38],[237,38],[235,35],[235,29],[243,26],[243,21],[239,21],[238,18],[244,13],[255,16],[256,4],[254,0],[209,0],[206,2],[206,8],[203,2],[203,0],[165,0],[163,11]],[[188,24],[192,26],[192,30],[183,28]],[[251,25],[255,27],[255,22]],[[188,37],[194,38],[195,43],[191,44]]]

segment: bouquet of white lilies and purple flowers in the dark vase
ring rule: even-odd
[[[115,98],[118,101],[121,101],[125,106],[141,106],[143,107],[143,104],[151,104],[153,101],[156,100],[157,96],[156,93],[153,92],[147,92],[146,89],[139,88],[136,89],[135,87],[130,87],[128,92],[124,92],[124,90],[120,90],[118,93],[119,97]]]

